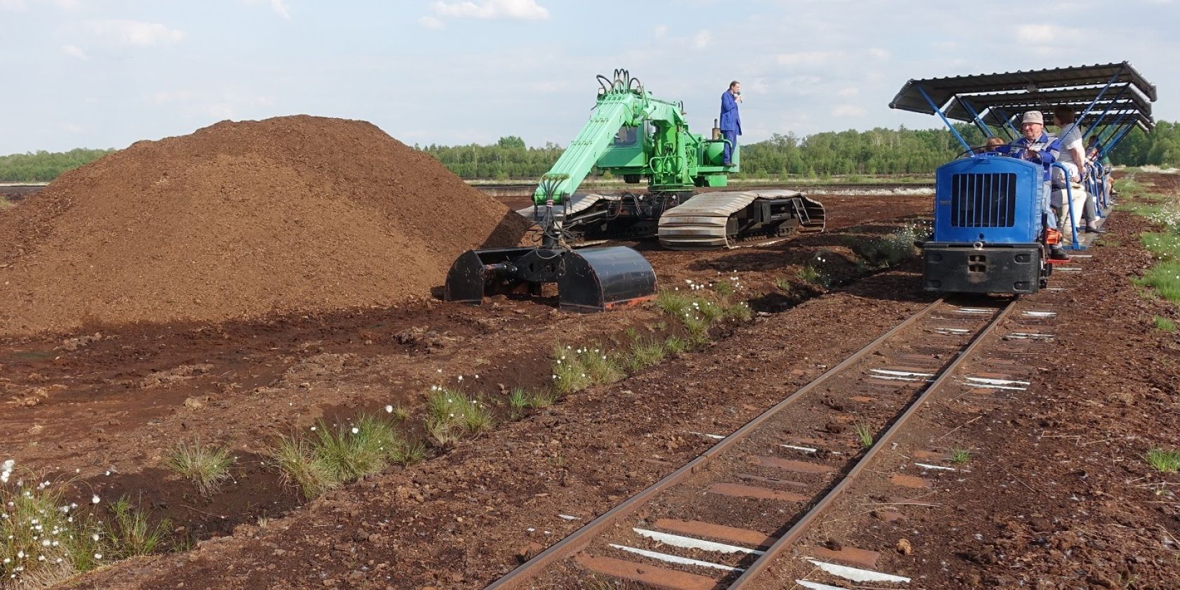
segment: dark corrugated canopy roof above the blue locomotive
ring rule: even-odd
[[[1120,64],[1095,64],[1092,66],[1057,67],[1051,70],[1030,70],[1025,72],[1005,72],[975,76],[955,76],[948,78],[927,78],[910,80],[890,103],[891,109],[933,114],[935,109],[923,98],[922,90],[938,107],[943,107],[957,94],[977,94],[984,92],[1038,93],[1054,88],[1075,88],[1082,86],[1104,86],[1112,81],[1133,85],[1150,101],[1155,101],[1155,85],[1147,81],[1128,61]]]

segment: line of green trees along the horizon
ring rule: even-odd
[[[971,145],[984,142],[983,133],[971,125],[957,124],[956,130]],[[549,171],[563,150],[553,143],[530,148],[517,136],[502,137],[491,145],[431,144],[414,145],[414,149],[435,157],[460,178],[498,181],[535,181]],[[775,133],[763,142],[742,144],[739,176],[931,173],[958,156],[962,149],[946,129],[878,127],[806,137]],[[77,149],[0,156],[0,182],[48,182],[112,151]],[[1180,123],[1160,122],[1149,135],[1138,129],[1132,131],[1110,153],[1110,159],[1128,166],[1180,166]]]

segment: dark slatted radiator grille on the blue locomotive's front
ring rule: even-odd
[[[951,177],[951,227],[1011,228],[1015,221],[1015,173],[962,173]]]

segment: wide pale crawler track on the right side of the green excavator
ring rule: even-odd
[[[673,250],[716,250],[822,231],[824,224],[824,205],[799,191],[707,192],[664,211],[658,236]]]

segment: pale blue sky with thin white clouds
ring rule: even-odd
[[[966,9],[956,12],[958,6]],[[125,148],[219,120],[368,120],[407,144],[569,144],[628,68],[743,143],[936,127],[910,78],[1130,61],[1180,119],[1180,0],[0,0],[0,155]]]

